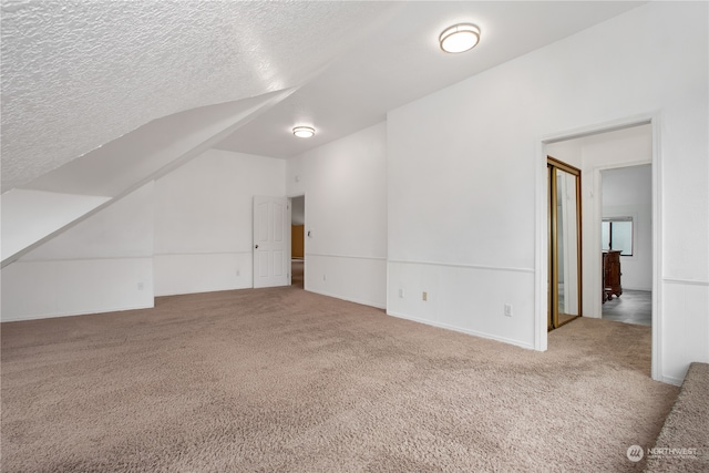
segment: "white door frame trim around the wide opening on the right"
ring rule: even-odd
[[[543,135],[537,141],[536,161],[535,161],[535,250],[534,250],[534,349],[537,351],[546,351],[547,349],[547,290],[548,281],[548,236],[547,236],[547,168],[546,168],[546,144],[561,141],[574,140],[589,135],[596,135],[627,128],[638,125],[651,125],[653,131],[653,161],[650,163],[653,169],[653,335],[651,335],[651,378],[662,381],[662,372],[660,361],[662,348],[662,213],[661,213],[661,182],[662,165],[660,153],[660,113],[650,112],[639,115],[627,116],[624,119],[596,123],[592,125],[580,126],[577,128],[561,131]],[[647,163],[646,163],[647,164]],[[582,203],[586,198],[593,198],[588,195],[588,189],[582,196]],[[598,222],[600,226],[600,220]],[[584,265],[586,261],[584,261]],[[599,276],[600,277],[600,276]],[[599,277],[597,279],[599,279]]]

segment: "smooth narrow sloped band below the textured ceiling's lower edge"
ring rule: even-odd
[[[292,90],[154,120],[2,194],[2,267],[208,150]]]

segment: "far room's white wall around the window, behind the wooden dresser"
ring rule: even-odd
[[[603,217],[633,217],[633,256],[620,257],[624,289],[653,290],[651,167],[608,169],[603,176]]]

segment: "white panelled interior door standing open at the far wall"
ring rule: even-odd
[[[290,284],[287,197],[254,196],[254,287]]]

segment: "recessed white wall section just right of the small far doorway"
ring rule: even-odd
[[[306,196],[306,290],[384,307],[386,147],[380,123],[288,160],[287,193]]]

